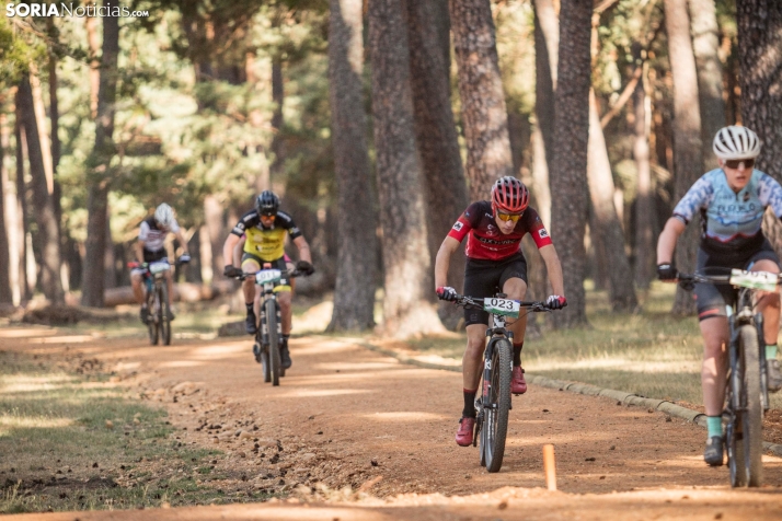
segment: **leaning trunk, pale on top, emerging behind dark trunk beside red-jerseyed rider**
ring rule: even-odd
[[[624,232],[613,204],[613,175],[594,91],[589,91],[588,147],[587,180],[594,215],[590,225],[595,228],[593,236],[594,233],[600,236],[601,251],[606,255],[606,258],[596,258],[596,260],[606,263],[609,300],[613,311],[633,311],[639,305],[639,301],[633,285],[629,283],[633,274],[624,253]]]

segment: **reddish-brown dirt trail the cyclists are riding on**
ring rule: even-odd
[[[303,500],[331,501],[295,510],[278,502],[168,509],[156,511],[156,519],[782,518],[781,459],[763,458],[769,485],[732,491],[727,468],[703,463],[704,431],[663,413],[530,385],[514,398],[503,470],[490,475],[476,449],[453,442],[461,410],[458,373],[404,366],[345,340],[307,337],[291,340],[294,367],[273,387],[262,382],[245,338],[177,339],[170,347],[141,339],[80,340],[88,341],[5,338],[3,348],[99,359],[104,370],[116,371],[115,380],[169,409],[182,443],[225,451],[218,462],[227,475],[225,490],[283,489]],[[544,443],[556,448],[559,493],[541,489]],[[340,502],[357,498],[358,503]],[[639,517],[630,516],[631,506],[642,508]]]

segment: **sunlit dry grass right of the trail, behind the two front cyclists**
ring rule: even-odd
[[[653,285],[642,296],[642,312],[611,313],[605,291],[587,291],[590,327],[549,331],[525,343],[522,362],[530,373],[590,383],[643,396],[701,404],[702,341],[694,317],[668,311],[674,286]],[[461,359],[464,337],[424,338],[411,344],[422,354]],[[772,407],[782,408],[773,395]]]

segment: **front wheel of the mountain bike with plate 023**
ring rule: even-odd
[[[483,447],[488,472],[499,472],[505,455],[505,439],[508,433],[508,413],[510,410],[511,347],[507,339],[497,340],[492,352],[492,369],[488,405],[484,407]]]

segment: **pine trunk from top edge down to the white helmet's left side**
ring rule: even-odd
[[[712,140],[725,126],[725,102],[722,97],[720,27],[714,0],[689,0],[692,18],[692,48],[698,67],[698,96],[701,104],[701,140],[704,170],[718,166],[712,152]]]

